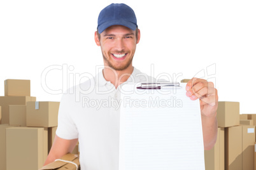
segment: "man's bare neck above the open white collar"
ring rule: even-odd
[[[115,88],[122,84],[123,82],[129,79],[130,75],[132,74],[133,67],[130,65],[125,70],[114,70],[110,67],[105,67],[103,69],[103,76],[106,81],[110,81]]]

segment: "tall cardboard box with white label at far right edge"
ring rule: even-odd
[[[255,126],[243,126],[243,170],[254,169]]]

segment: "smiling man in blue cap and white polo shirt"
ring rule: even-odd
[[[95,41],[101,46],[104,69],[96,79],[79,85],[81,89],[90,90],[79,96],[69,93],[62,96],[59,126],[45,164],[72,152],[79,139],[82,169],[118,169],[120,113],[114,105],[120,97],[118,87],[125,81],[152,79],[132,67],[139,39],[136,16],[129,6],[110,4],[101,11]],[[193,78],[187,83],[186,90],[191,100],[200,98],[204,148],[208,150],[217,138],[217,89],[212,82]],[[92,107],[90,101],[109,101],[111,105]]]

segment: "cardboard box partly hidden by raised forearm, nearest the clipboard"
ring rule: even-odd
[[[224,170],[224,128],[218,128],[216,143],[211,150],[204,150],[204,163],[206,170]]]

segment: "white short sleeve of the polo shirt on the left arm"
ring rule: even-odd
[[[78,138],[78,130],[74,122],[73,116],[73,95],[64,94],[60,100],[58,127],[56,134],[65,140],[73,140]],[[73,112],[71,112],[73,110]]]

